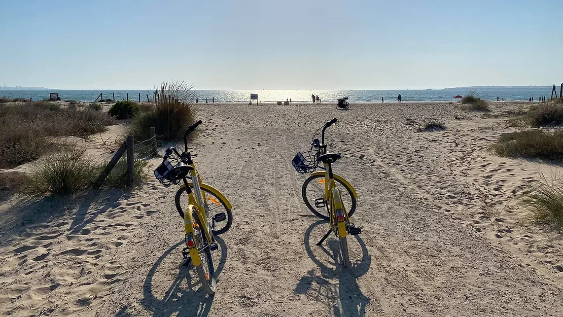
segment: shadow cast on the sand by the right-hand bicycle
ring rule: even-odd
[[[337,317],[365,316],[366,306],[370,305],[372,301],[361,292],[357,279],[367,273],[371,265],[372,258],[368,254],[368,249],[359,235],[354,236],[356,239],[348,238],[348,244],[357,240],[360,245],[361,260],[352,262],[352,267],[344,267],[340,244],[337,240],[327,239],[325,244],[328,244],[328,249],[324,245],[319,247],[314,245],[315,248],[319,248],[325,255],[334,260],[336,267],[330,267],[327,263],[319,260],[311,249],[311,233],[316,226],[321,224],[328,224],[328,221],[316,221],[305,232],[307,255],[319,267],[320,275],[316,274],[315,269],[307,272],[307,275],[303,276],[297,283],[294,293],[306,295],[317,302],[323,303],[328,309],[332,309],[332,314]],[[317,242],[316,240],[313,241],[314,244]],[[337,264],[338,258],[340,261]]]

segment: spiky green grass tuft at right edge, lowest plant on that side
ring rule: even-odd
[[[539,185],[526,195],[524,206],[538,225],[559,234],[563,231],[563,186],[557,180],[548,181],[542,175]]]

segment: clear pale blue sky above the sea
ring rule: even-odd
[[[0,85],[425,89],[563,82],[563,3],[0,0]]]

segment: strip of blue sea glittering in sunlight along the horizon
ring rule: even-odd
[[[559,87],[557,87],[559,88]],[[200,102],[249,102],[251,93],[258,94],[260,102],[276,102],[291,99],[293,102],[312,102],[311,95],[319,96],[321,101],[332,102],[341,97],[348,97],[350,102],[376,103],[384,101],[396,101],[401,94],[404,102],[423,101],[454,101],[455,95],[465,96],[470,92],[483,100],[503,99],[506,101],[528,101],[534,97],[534,101],[540,96],[551,96],[552,87],[498,87],[498,88],[445,88],[440,90],[196,90],[195,96]],[[559,89],[557,89],[557,93]],[[42,100],[49,97],[49,93],[59,93],[61,100],[77,100],[84,102],[95,101],[96,98],[115,100],[146,101],[147,95],[152,95],[151,90],[9,90],[0,88],[0,97],[10,98],[23,97]]]

